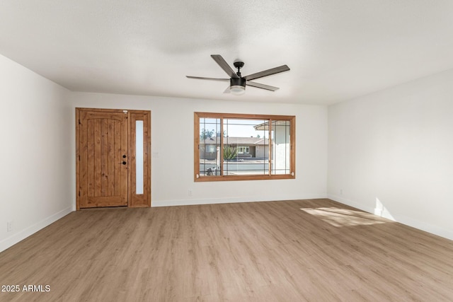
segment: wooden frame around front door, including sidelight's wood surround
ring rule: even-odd
[[[127,207],[151,207],[151,111],[103,108],[76,109],[76,210],[80,209],[80,151],[79,124],[81,111],[122,112],[127,114]],[[135,122],[143,121],[143,194],[135,194]]]

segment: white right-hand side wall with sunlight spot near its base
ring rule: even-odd
[[[453,70],[328,108],[328,196],[453,239]]]

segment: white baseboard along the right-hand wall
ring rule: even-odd
[[[346,204],[350,207],[355,207],[357,209],[361,209],[362,211],[366,211],[371,214],[375,214],[377,216],[384,217],[386,219],[390,219],[399,223],[406,224],[406,226],[411,226],[413,228],[418,228],[421,231],[425,231],[428,233],[432,233],[434,235],[447,238],[449,240],[453,240],[453,231],[447,230],[445,228],[440,228],[439,226],[433,226],[430,223],[425,223],[423,221],[419,221],[416,219],[412,219],[411,217],[404,216],[402,214],[398,213],[389,213],[386,209],[374,209],[371,207],[365,207],[362,204],[359,204],[358,202],[353,202],[350,199],[345,199],[343,197],[333,195],[333,194],[328,194],[327,195],[329,199],[332,199],[336,202],[340,202],[342,204]]]

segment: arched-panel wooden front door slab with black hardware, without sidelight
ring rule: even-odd
[[[127,206],[127,112],[79,112],[79,207]]]

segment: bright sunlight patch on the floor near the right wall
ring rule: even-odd
[[[314,215],[329,223],[331,226],[370,226],[389,222],[373,214],[351,209],[340,209],[336,207],[306,208],[301,209],[308,214]]]

